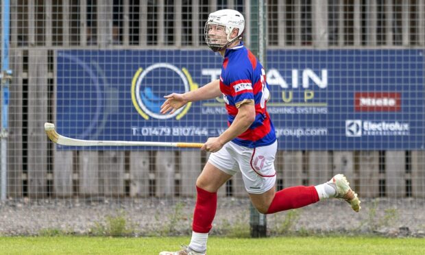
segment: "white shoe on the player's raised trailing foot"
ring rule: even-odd
[[[348,204],[351,205],[351,208],[359,213],[361,206],[360,206],[360,200],[359,197],[357,197],[357,194],[352,191],[350,188],[350,183],[348,182],[347,178],[341,173],[335,175],[332,179],[330,179],[329,182],[330,186],[333,186],[335,191],[337,193],[335,194],[336,198],[344,199]]]

